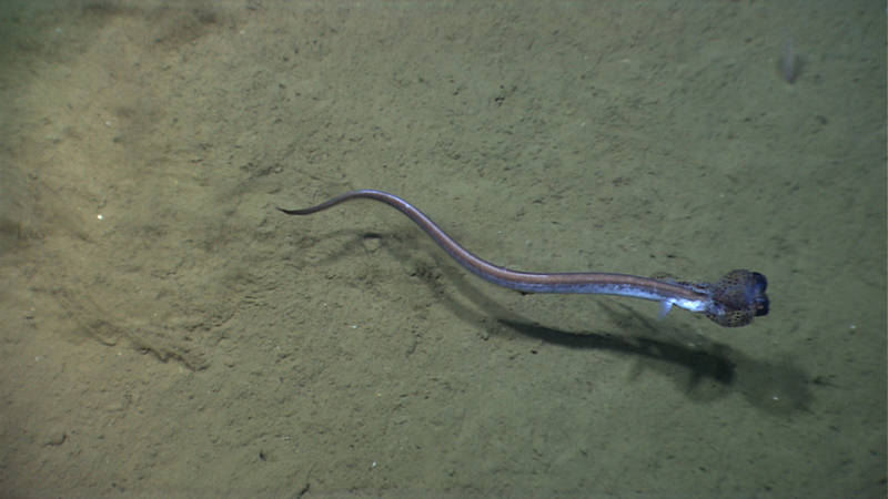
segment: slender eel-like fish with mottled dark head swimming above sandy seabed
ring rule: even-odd
[[[474,255],[447,235],[423,212],[397,197],[376,190],[351,191],[316,206],[302,210],[278,208],[287,215],[311,215],[345,201],[367,198],[397,208],[425,231],[456,262],[473,274],[500,286],[523,293],[606,294],[660,302],[664,310],[673,306],[703,313],[719,326],[739,327],[753,317],[768,314],[768,286],[764,275],[737,269],[715,284],[688,283],[673,278],[640,277],[609,273],[534,273],[513,271]]]

